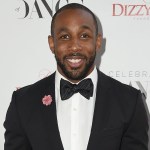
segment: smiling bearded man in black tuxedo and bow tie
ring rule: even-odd
[[[94,14],[80,4],[62,7],[48,40],[57,70],[13,93],[5,150],[148,150],[140,92],[95,67]]]

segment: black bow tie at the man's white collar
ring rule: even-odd
[[[60,96],[62,100],[66,100],[78,92],[85,98],[90,99],[93,96],[92,80],[84,79],[79,84],[72,84],[63,79],[60,80]]]

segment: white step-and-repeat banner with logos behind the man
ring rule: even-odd
[[[99,18],[103,34],[98,68],[140,89],[150,109],[150,0],[1,0],[0,5],[0,149],[3,122],[12,92],[56,70],[48,45],[53,14],[80,3]]]

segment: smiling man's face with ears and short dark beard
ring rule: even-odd
[[[78,82],[94,69],[101,37],[96,35],[90,13],[68,9],[57,15],[54,35],[49,36],[49,44],[55,54],[58,71],[70,81]]]

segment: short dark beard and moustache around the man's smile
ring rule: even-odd
[[[73,54],[70,54],[69,56],[84,57],[85,60],[86,60],[84,68],[81,71],[78,71],[79,68],[73,68],[71,71],[69,71],[67,69],[65,63],[63,63],[67,56],[63,57],[63,62],[62,62],[59,59],[59,57],[55,54],[57,65],[61,68],[62,72],[64,73],[64,75],[68,79],[70,79],[70,80],[82,80],[82,79],[84,79],[88,75],[90,69],[92,68],[92,66],[94,64],[95,57],[96,57],[96,52],[90,58],[87,58],[86,56],[84,56],[80,53],[73,53]]]

